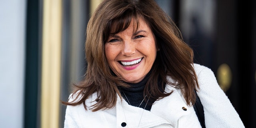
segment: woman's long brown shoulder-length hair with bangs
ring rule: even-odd
[[[113,75],[107,63],[104,43],[110,34],[122,32],[134,22],[138,29],[138,19],[142,18],[151,28],[157,52],[152,66],[152,73],[146,83],[144,96],[155,100],[164,98],[170,93],[162,92],[164,84],[181,88],[188,105],[195,102],[194,89],[199,88],[196,73],[193,68],[193,50],[186,44],[172,19],[154,2],[154,0],[103,0],[92,14],[87,26],[85,54],[87,70],[84,79],[74,84],[76,94],[74,101],[62,102],[66,105],[83,104],[85,100],[97,93],[96,104],[92,111],[113,108],[117,96],[120,96],[118,86],[128,87],[118,76]],[[134,20],[132,20],[134,19]],[[158,80],[161,78],[161,86]],[[168,80],[172,78],[174,82]],[[118,95],[117,95],[118,94]]]

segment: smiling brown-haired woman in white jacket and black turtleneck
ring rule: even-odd
[[[243,128],[213,72],[154,0],[103,0],[88,22],[88,62],[66,108],[65,128]],[[232,118],[230,118],[232,117]]]

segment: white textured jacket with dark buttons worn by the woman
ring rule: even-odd
[[[212,70],[199,64],[194,64],[194,68],[206,128],[244,128]],[[121,102],[119,97],[114,108],[96,112],[86,111],[82,104],[67,106],[64,128],[201,128],[193,106],[186,105],[180,90],[168,85],[165,88],[166,92],[172,90],[174,92],[170,96],[154,102],[150,111],[130,106],[124,99]],[[97,95],[93,94],[86,100],[87,106],[94,104],[92,101],[96,98]],[[125,127],[121,126],[123,122],[126,123]]]

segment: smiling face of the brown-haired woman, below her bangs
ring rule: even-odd
[[[114,73],[125,82],[138,83],[150,71],[157,50],[154,35],[146,22],[139,19],[136,32],[133,25],[136,24],[131,22],[126,30],[110,35],[104,47]]]

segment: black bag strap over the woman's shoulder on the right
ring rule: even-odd
[[[196,90],[195,90],[196,93]],[[204,107],[201,103],[200,98],[198,97],[197,93],[196,93],[196,103],[194,104],[194,110],[196,111],[196,116],[202,126],[202,128],[206,128],[205,127],[205,121],[204,121]]]

